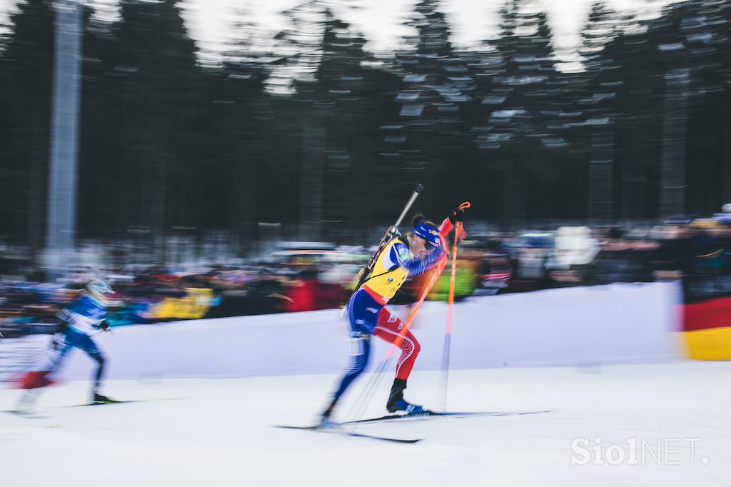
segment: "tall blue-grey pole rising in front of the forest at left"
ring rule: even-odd
[[[45,265],[60,276],[75,249],[79,105],[81,85],[81,4],[56,2],[53,101],[48,178]]]

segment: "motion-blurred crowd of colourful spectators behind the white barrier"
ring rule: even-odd
[[[456,298],[612,282],[651,282],[731,273],[731,225],[723,218],[667,222],[647,230],[561,227],[553,231],[470,235],[461,243]],[[115,326],[329,309],[347,300],[368,249],[289,246],[265,262],[191,268],[111,269]],[[0,333],[50,333],[56,313],[99,271],[69,271],[58,282],[0,282]],[[446,299],[449,272],[429,299]],[[409,303],[420,281],[393,303]]]

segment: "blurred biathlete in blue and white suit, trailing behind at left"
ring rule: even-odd
[[[109,330],[105,295],[111,292],[113,292],[111,287],[96,279],[86,285],[79,298],[58,313],[57,317],[61,319],[62,324],[53,336],[50,348],[34,370],[25,372],[20,379],[19,388],[25,389],[26,392],[18,402],[18,412],[29,409],[37,399],[38,390],[53,383],[48,376],[59,369],[73,348],[83,350],[96,362],[91,387],[92,404],[115,402],[99,393],[106,358],[92,339],[96,333]]]

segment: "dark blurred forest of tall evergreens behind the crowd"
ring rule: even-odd
[[[52,0],[20,3],[0,37],[0,239],[42,249],[53,83]],[[130,232],[242,241],[257,224],[300,238],[417,209],[504,227],[548,219],[612,224],[711,214],[731,201],[731,4],[686,1],[638,20],[597,2],[583,69],[557,69],[545,12],[507,0],[500,36],[450,44],[439,1],[407,20],[392,53],[325,2],[292,29],[238,39],[202,63],[176,0],[86,7],[78,238]],[[270,49],[263,50],[262,45]]]

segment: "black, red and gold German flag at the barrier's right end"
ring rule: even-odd
[[[686,277],[683,296],[688,357],[731,360],[731,276]]]

